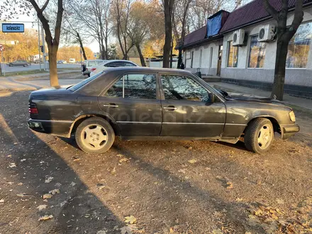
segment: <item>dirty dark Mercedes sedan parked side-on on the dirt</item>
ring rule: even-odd
[[[118,67],[67,88],[33,91],[28,126],[70,138],[89,153],[126,140],[201,140],[237,143],[264,152],[274,132],[299,131],[294,111],[280,101],[229,96],[181,69]]]

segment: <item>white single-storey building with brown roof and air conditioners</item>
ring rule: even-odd
[[[277,11],[281,0],[270,0]],[[296,0],[289,0],[291,25]],[[289,43],[285,92],[312,98],[312,0],[303,1],[303,23]],[[214,26],[214,23],[217,26]],[[186,69],[202,75],[220,76],[223,82],[271,90],[274,79],[277,23],[264,9],[263,0],[228,13],[219,11],[207,26],[184,40]]]

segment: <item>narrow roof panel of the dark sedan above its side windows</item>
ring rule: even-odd
[[[124,71],[124,72],[169,72],[179,74],[191,74],[184,69],[162,68],[162,67],[109,67],[106,72]]]

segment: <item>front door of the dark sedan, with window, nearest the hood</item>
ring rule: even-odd
[[[191,76],[161,74],[163,136],[218,138],[225,124],[225,104]]]

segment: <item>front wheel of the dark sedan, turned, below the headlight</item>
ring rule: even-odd
[[[274,128],[267,118],[255,118],[245,131],[244,143],[247,150],[257,153],[267,152],[274,141]]]

